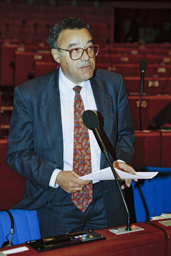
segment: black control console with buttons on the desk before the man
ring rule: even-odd
[[[90,242],[95,240],[105,239],[105,236],[100,235],[94,231],[86,230],[79,232],[66,233],[56,236],[50,236],[37,240],[25,242],[33,249],[40,251],[50,250],[54,248],[60,248],[70,245],[76,245],[83,242]]]

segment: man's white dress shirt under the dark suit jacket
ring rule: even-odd
[[[93,97],[92,89],[89,80],[81,82],[79,86],[82,87],[80,95],[84,104],[84,109],[96,111],[96,104]],[[75,84],[68,80],[61,69],[59,68],[59,92],[60,92],[60,106],[61,106],[61,121],[62,121],[62,135],[63,135],[63,170],[72,171],[73,163],[73,103],[75,92],[73,91]],[[89,132],[90,151],[91,151],[91,167],[92,172],[100,169],[100,148],[91,130]],[[57,145],[56,145],[57,146]],[[55,184],[57,174],[61,170],[55,169],[51,175],[49,186],[58,187]],[[97,181],[93,181],[95,183]]]

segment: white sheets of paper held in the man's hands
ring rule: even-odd
[[[117,172],[118,176],[121,179],[151,179],[155,175],[157,175],[158,171],[155,172],[136,172],[136,175],[124,171],[120,171],[116,168],[114,170]],[[110,167],[105,169],[92,172],[90,174],[79,177],[79,179],[83,180],[111,180],[114,179],[113,173]]]

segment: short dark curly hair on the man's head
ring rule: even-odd
[[[66,29],[68,30],[87,29],[87,31],[89,31],[90,35],[92,36],[91,29],[84,20],[73,18],[73,17],[67,18],[55,24],[53,28],[50,30],[50,34],[47,39],[47,44],[49,45],[50,49],[57,49],[57,39],[59,37],[59,34]]]

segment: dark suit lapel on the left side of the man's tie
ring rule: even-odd
[[[46,129],[46,140],[52,150],[52,159],[63,169],[63,137],[58,87],[58,70],[52,73],[42,95],[40,116]],[[45,138],[44,138],[45,139]]]

